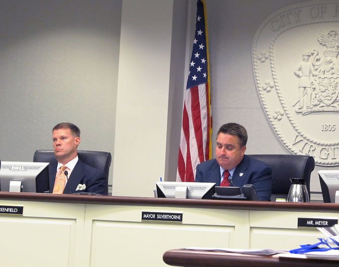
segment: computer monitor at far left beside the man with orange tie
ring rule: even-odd
[[[49,163],[2,162],[0,190],[44,193],[50,190]]]

